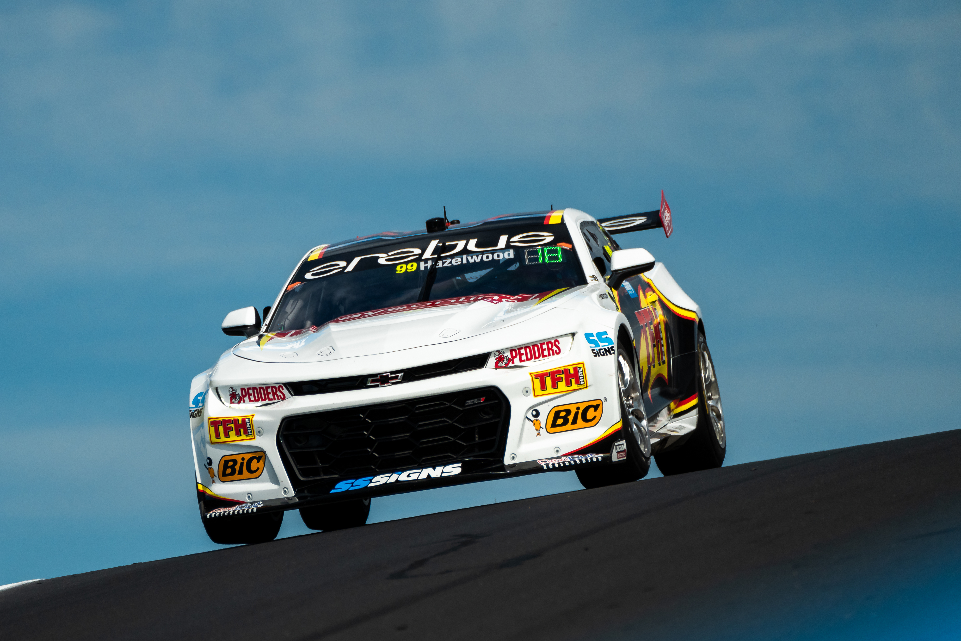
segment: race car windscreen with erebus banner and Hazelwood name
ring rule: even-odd
[[[333,252],[318,248],[287,285],[268,331],[306,330],[347,314],[420,301],[586,284],[559,218],[531,216]]]

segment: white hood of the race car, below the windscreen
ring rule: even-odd
[[[530,320],[583,287],[373,309],[341,316],[319,328],[261,333],[236,345],[233,353],[260,362],[330,362],[454,342]]]

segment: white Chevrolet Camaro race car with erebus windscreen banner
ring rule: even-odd
[[[574,470],[587,488],[719,467],[701,308],[644,249],[661,209],[444,218],[314,247],[263,321],[193,379],[201,518],[216,543],[366,523],[373,497]]]

